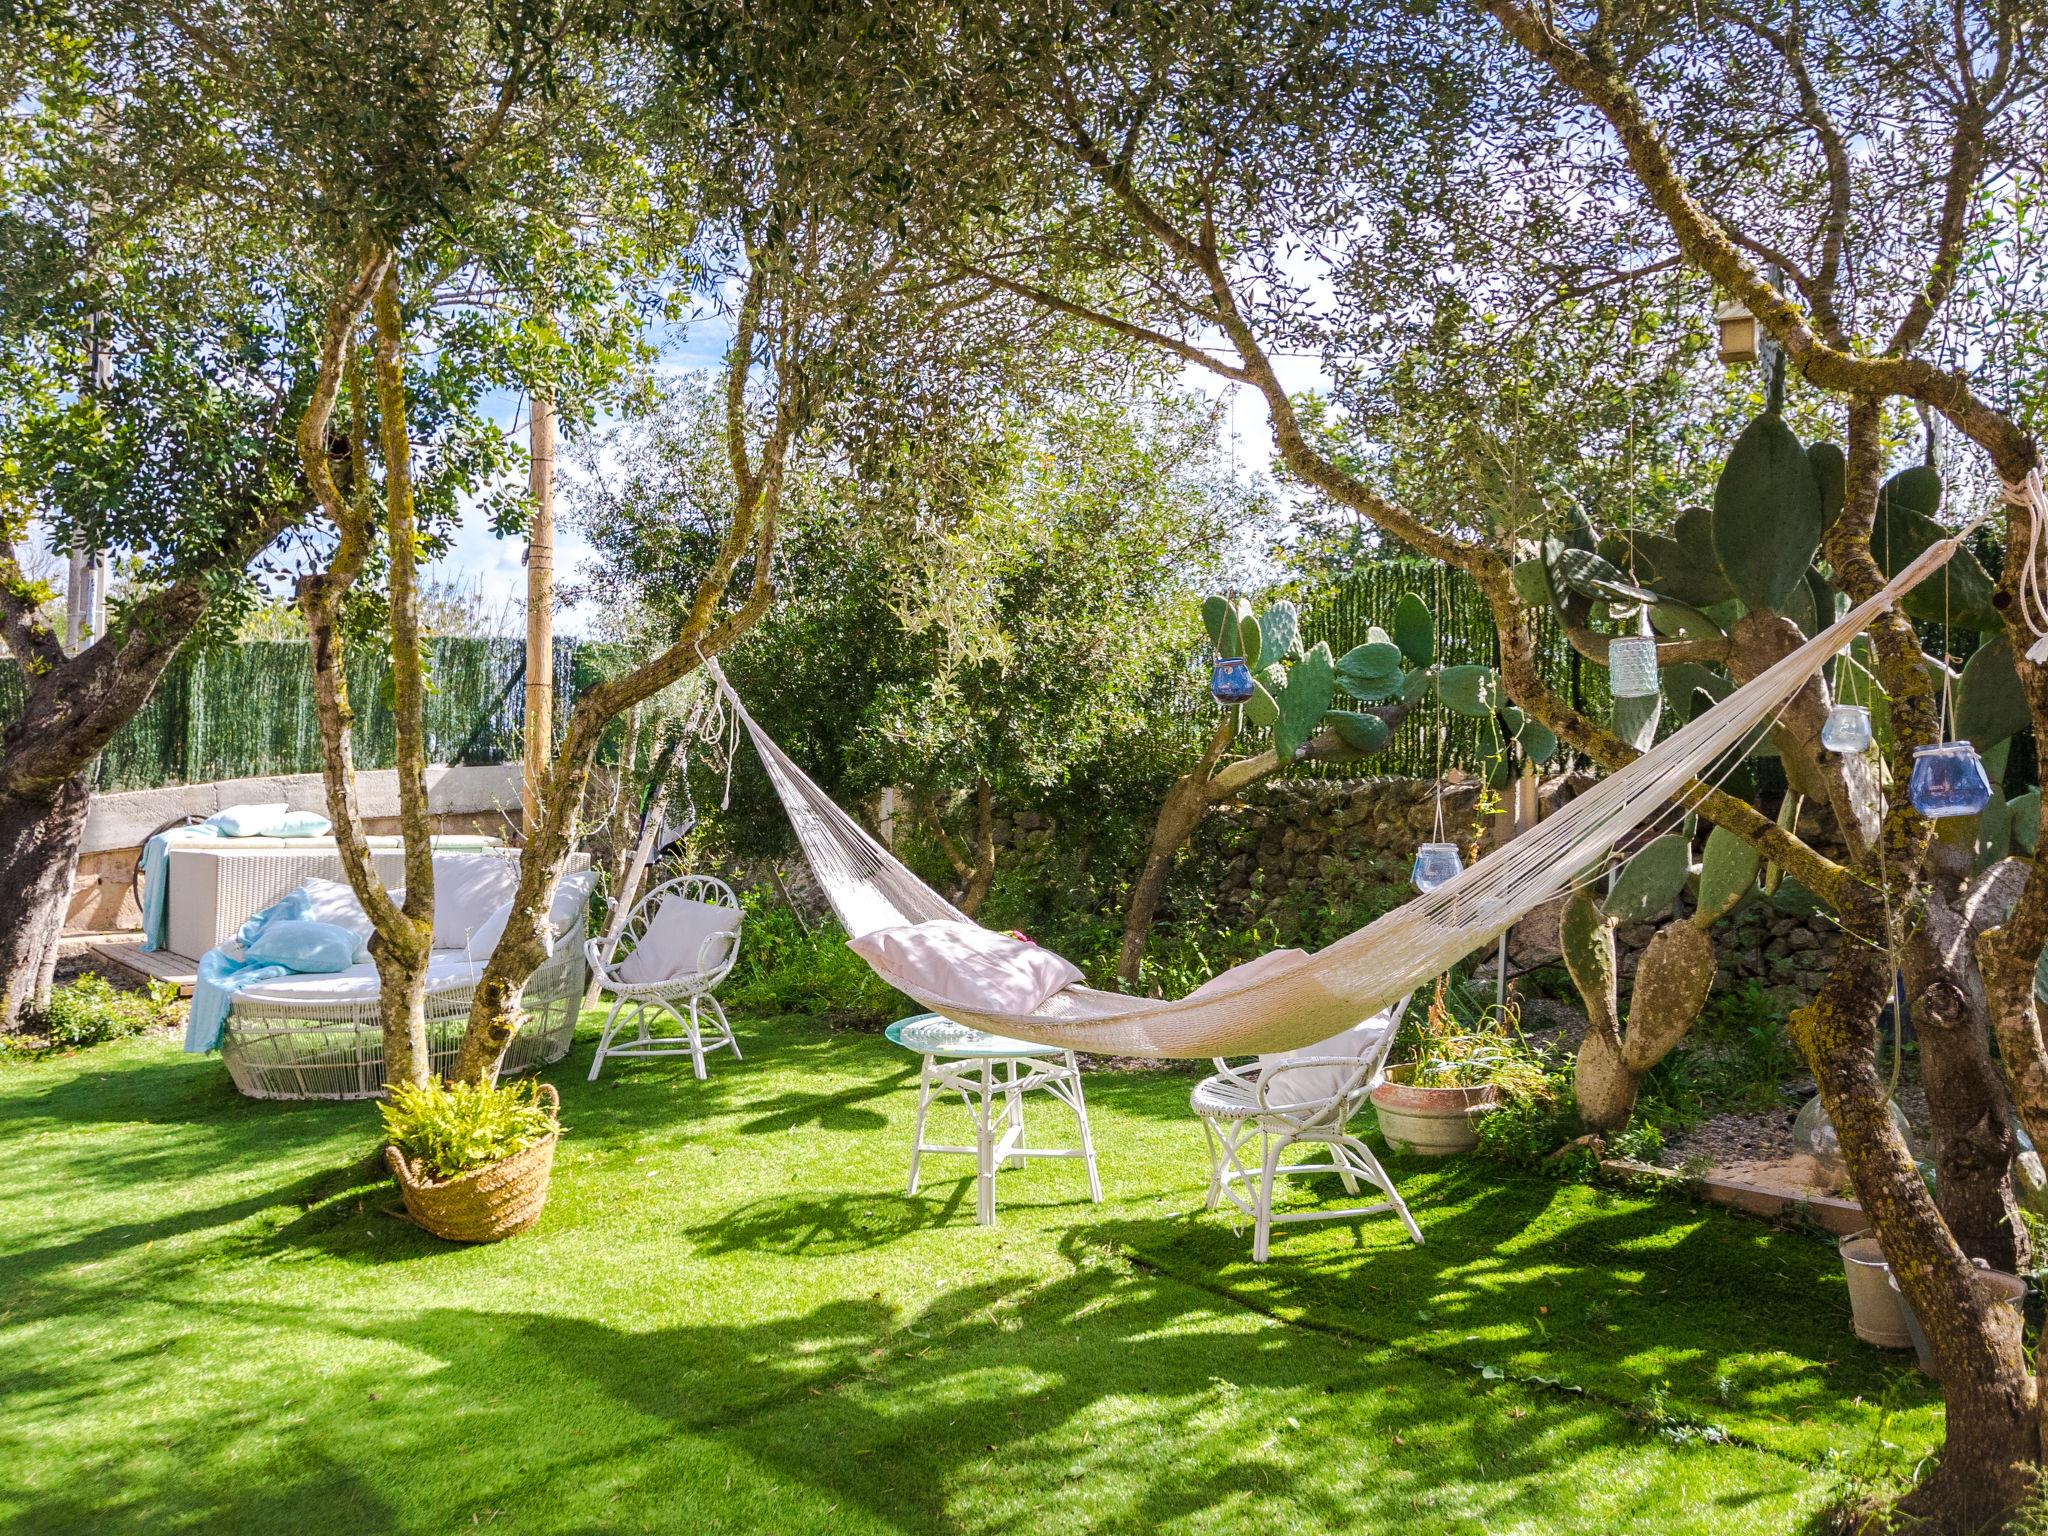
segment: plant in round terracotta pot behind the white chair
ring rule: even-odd
[[[1397,1151],[1432,1157],[1470,1151],[1479,1143],[1477,1118],[1503,1094],[1540,1077],[1522,1044],[1520,1010],[1475,1008],[1460,1012],[1436,983],[1430,1008],[1415,1026],[1409,1061],[1391,1067],[1372,1090],[1380,1135]]]

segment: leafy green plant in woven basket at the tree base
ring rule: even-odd
[[[399,1083],[377,1108],[406,1214],[434,1237],[496,1243],[539,1221],[561,1139],[553,1083]]]

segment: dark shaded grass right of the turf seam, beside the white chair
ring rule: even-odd
[[[1491,1163],[1389,1157],[1389,1171],[1421,1247],[1368,1217],[1280,1227],[1257,1266],[1249,1231],[1221,1212],[1112,1217],[1067,1245],[1108,1243],[1276,1317],[1804,1460],[1839,1450],[1845,1430],[1874,1436],[1886,1393],[1903,1409],[1894,1438],[1939,1436],[1937,1395],[1853,1339],[1841,1266],[1806,1235]]]

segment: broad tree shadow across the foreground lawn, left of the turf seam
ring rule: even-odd
[[[236,1403],[242,1423],[289,1411],[291,1444],[250,1452],[199,1393],[152,1419],[152,1436],[186,1454],[123,1446],[61,1491],[16,1493],[20,1530],[106,1530],[111,1507],[135,1526],[309,1536],[446,1530],[485,1509],[514,1530],[614,1518],[827,1530],[856,1513],[934,1534],[1159,1530],[1223,1509],[1251,1530],[1386,1530],[1452,1497],[1458,1528],[1581,1528],[1597,1473],[1575,1464],[1634,1466],[1659,1446],[1587,1403],[1245,1329],[1198,1290],[1100,1264],[993,1276],[913,1313],[834,1298],[762,1323],[219,1313],[274,1331],[285,1358],[326,1362],[313,1380],[303,1366],[256,1378]],[[393,1372],[393,1358],[430,1368]],[[49,1386],[111,1384],[102,1360],[47,1374]],[[348,1473],[303,1446],[346,1446]],[[1763,1497],[1802,1481],[1761,1458],[1745,1466]],[[602,1487],[637,1491],[594,1507]]]

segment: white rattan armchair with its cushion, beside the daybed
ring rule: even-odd
[[[664,918],[670,903],[678,905]],[[590,1081],[598,1079],[608,1057],[688,1055],[698,1079],[705,1077],[707,1053],[731,1051],[739,1059],[733,1026],[713,995],[739,958],[739,897],[725,881],[684,874],[643,895],[616,934],[584,946],[592,979],[612,993]],[[678,952],[678,942],[692,952]],[[682,1004],[688,1004],[688,1014]],[[682,1034],[659,1034],[664,1016]],[[627,1028],[633,1038],[621,1040]]]

